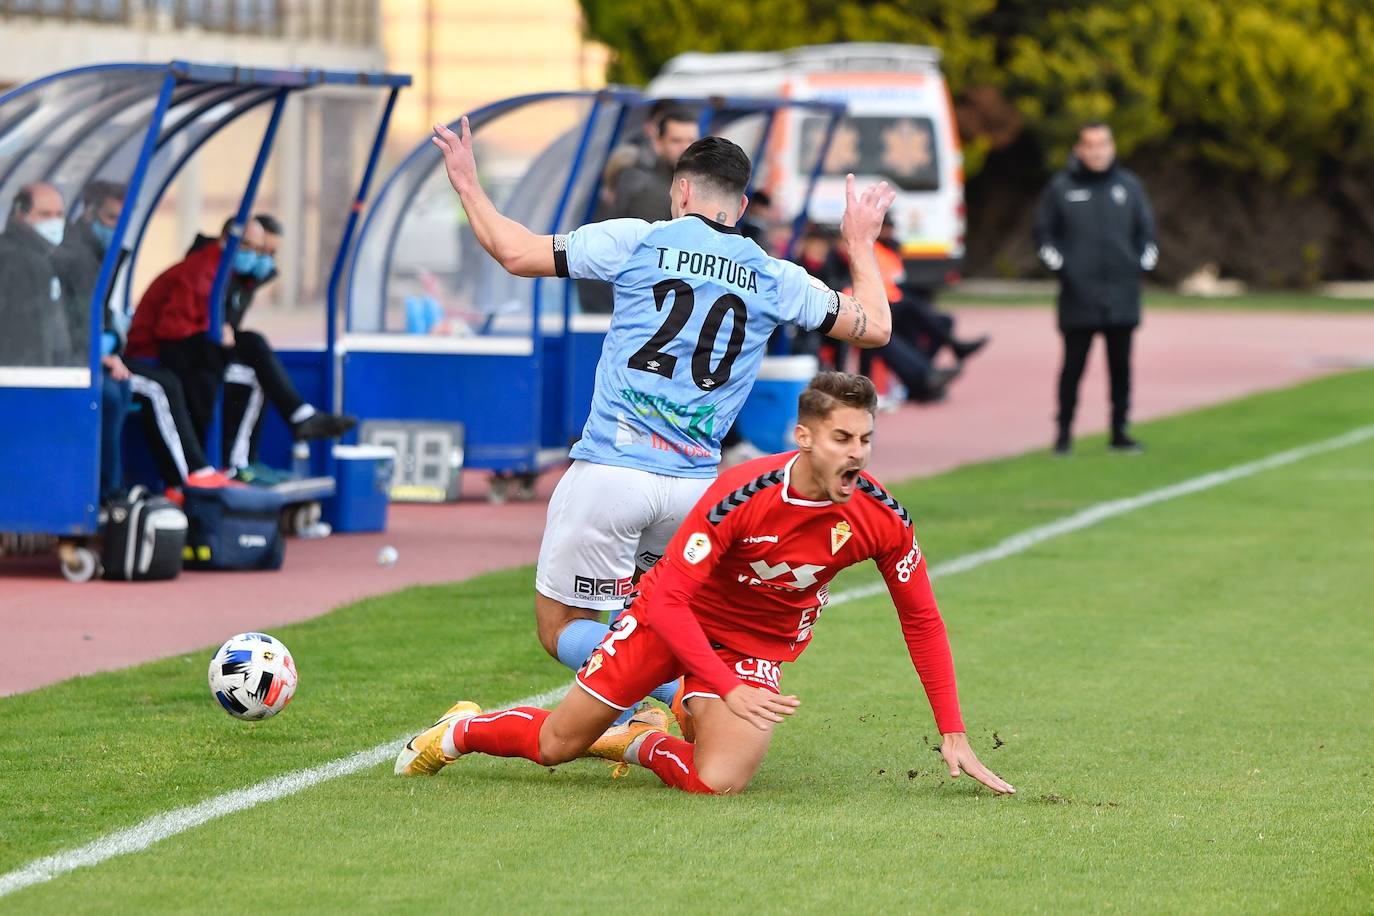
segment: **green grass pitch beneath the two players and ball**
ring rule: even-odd
[[[1358,372],[894,486],[932,563],[1374,422]],[[882,434],[879,419],[878,434]],[[1370,912],[1374,442],[936,582],[970,737],[951,781],[885,597],[841,604],[743,797],[644,770],[376,766],[0,898],[0,912]],[[872,581],[871,567],[833,592]],[[279,628],[301,687],[245,724],[212,647],[0,699],[0,873],[144,817],[567,681],[530,570]],[[225,633],[228,636],[228,633]],[[8,645],[5,651],[22,651]]]

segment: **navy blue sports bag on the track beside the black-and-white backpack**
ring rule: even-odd
[[[286,559],[280,515],[284,499],[257,486],[188,486],[185,567],[276,570]]]

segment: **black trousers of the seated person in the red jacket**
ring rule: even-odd
[[[216,343],[205,334],[168,341],[158,347],[158,358],[181,380],[191,422],[202,442],[206,430],[210,428],[210,420],[214,416],[214,398],[220,391],[224,369],[229,363],[242,363],[253,369],[267,400],[287,422],[305,404],[301,393],[291,383],[291,376],[286,374],[286,367],[272,352],[272,345],[256,331],[239,331],[232,347]]]

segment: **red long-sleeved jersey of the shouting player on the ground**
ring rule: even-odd
[[[845,504],[804,500],[790,486],[796,459],[794,452],[771,455],[721,474],[640,582],[632,612],[665,636],[676,630],[679,621],[664,615],[676,610],[671,585],[686,575],[691,615],[710,643],[790,662],[811,640],[830,581],[872,559],[940,731],[963,731],[944,621],[907,509],[868,474]],[[655,591],[662,592],[657,599]],[[723,677],[717,669],[717,683]],[[730,687],[720,684],[721,696]]]

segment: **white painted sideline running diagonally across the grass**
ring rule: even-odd
[[[1180,496],[1189,496],[1215,486],[1221,486],[1223,483],[1230,483],[1231,481],[1238,481],[1243,477],[1252,477],[1261,471],[1283,467],[1285,464],[1293,464],[1294,461],[1301,461],[1303,459],[1312,457],[1314,455],[1333,452],[1371,438],[1374,438],[1374,426],[1364,426],[1344,435],[1337,435],[1336,438],[1323,439],[1320,442],[1289,449],[1286,452],[1278,452],[1257,461],[1237,464],[1223,471],[1204,474],[1202,477],[1195,477],[1193,479],[1183,481],[1182,483],[1173,483],[1157,490],[1149,490],[1147,493],[1142,493],[1139,496],[1098,503],[1096,505],[1090,505],[1081,512],[1074,512],[1073,515],[1062,518],[1057,522],[1028,529],[1021,534],[1009,537],[1000,544],[985,551],[974,551],[973,553],[966,553],[947,563],[938,563],[930,569],[930,577],[936,578],[941,575],[967,573],[969,570],[987,563],[993,563],[996,560],[1022,553],[1051,538],[1081,531],[1085,527],[1091,527],[1110,518],[1125,515],[1127,512],[1134,512],[1147,505],[1173,500]],[[846,589],[831,596],[830,606],[881,595],[883,591],[886,591],[886,585],[881,581]],[[525,699],[515,700],[508,706],[543,706],[561,699],[566,692],[566,687],[559,687],[556,689],[539,694],[537,696],[526,696]],[[261,805],[262,802],[286,798],[287,795],[294,795],[295,792],[306,790],[311,786],[317,786],[319,783],[337,779],[339,776],[349,776],[352,773],[357,773],[359,770],[376,766],[378,764],[394,758],[400,753],[401,743],[405,740],[407,739],[401,737],[394,742],[387,742],[386,744],[378,744],[371,750],[360,751],[352,757],[344,757],[328,764],[312,766],[311,769],[298,770],[295,773],[276,776],[258,783],[257,786],[239,788],[232,792],[225,792],[224,795],[216,795],[214,798],[209,798],[196,805],[179,808],[165,814],[155,814],[142,824],[115,831],[114,834],[107,834],[106,836],[87,843],[85,846],[34,860],[23,868],[15,869],[7,875],[0,875],[0,897],[12,894],[33,884],[49,882],[54,878],[60,878],[62,875],[76,871],[77,868],[99,865],[100,862],[114,858],[115,856],[142,851],[154,843],[159,843],[164,839],[176,836],[177,834],[184,834],[185,831],[212,821],[216,817],[232,814],[235,812]]]

